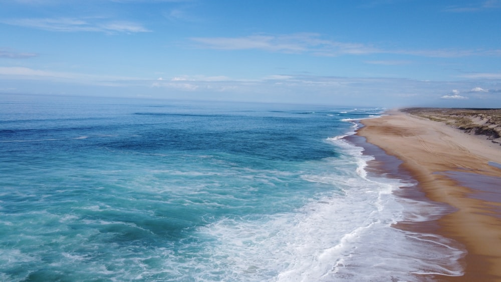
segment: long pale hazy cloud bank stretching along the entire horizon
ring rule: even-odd
[[[272,75],[254,80],[236,80],[225,76],[165,77],[165,75],[157,74],[148,79],[139,79],[0,67],[0,80],[4,84],[2,87],[4,89],[15,87],[17,89],[11,92],[19,93],[50,93],[54,89],[53,82],[62,82],[58,88],[74,95],[88,95],[92,92],[95,95],[133,97],[139,93],[151,95],[154,98],[274,103],[287,101],[288,103],[338,106],[429,105],[447,107],[451,102],[462,107],[485,108],[501,105],[500,95],[489,94],[496,90],[490,90],[489,93],[468,94],[472,95],[469,99],[463,97],[457,89],[466,89],[465,93],[469,93],[469,89],[481,85],[471,81],[423,82],[398,78],[354,78],[306,74]],[[163,80],[158,80],[159,77]],[[225,80],[221,80],[222,78]],[[30,82],[22,83],[19,80],[30,80]],[[89,91],[89,89],[95,91]],[[452,92],[451,89],[456,91]],[[437,96],[437,92],[447,93],[447,95],[439,99],[440,95]],[[483,99],[479,95],[484,95]],[[441,102],[437,103],[437,100]]]

